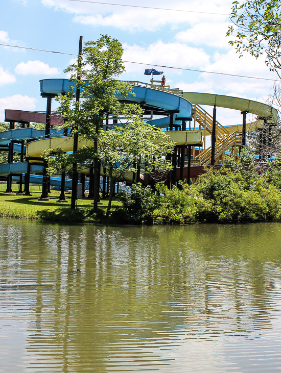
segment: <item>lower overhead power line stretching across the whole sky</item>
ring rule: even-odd
[[[40,52],[48,52],[48,53],[57,53],[60,55],[68,55],[68,56],[79,56],[78,54],[75,53],[66,53],[66,52],[55,52],[55,51],[46,51],[45,49],[36,49],[36,48],[30,48],[27,46],[18,46],[18,45],[9,45],[9,44],[0,44],[3,46],[10,46],[13,48],[23,48],[23,49],[31,49],[31,51],[40,51]],[[114,58],[106,58],[106,57],[96,57],[101,60],[111,60],[111,61],[118,61]],[[214,71],[204,71],[204,70],[197,70],[197,69],[187,69],[184,67],[174,67],[174,66],[165,66],[165,65],[156,65],[153,63],[144,63],[144,62],[135,62],[135,61],[125,61],[123,62],[127,63],[134,63],[136,65],[145,65],[145,66],[156,66],[156,67],[164,67],[164,68],[169,68],[169,69],[175,69],[175,70],[184,70],[184,71],[195,71],[195,72],[206,72],[208,74],[217,74],[217,75],[224,75],[227,77],[237,77],[237,78],[247,78],[247,79],[259,79],[259,80],[268,80],[271,82],[281,82],[281,80],[275,80],[275,79],[268,79],[268,78],[257,78],[257,77],[248,77],[246,75],[236,75],[236,74],[227,74],[224,72],[214,72]]]

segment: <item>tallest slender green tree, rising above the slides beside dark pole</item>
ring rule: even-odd
[[[103,128],[105,113],[114,116],[128,111],[115,97],[119,92],[125,96],[132,92],[132,87],[116,80],[124,70],[122,63],[122,44],[108,35],[101,35],[97,41],[88,41],[78,58],[77,64],[68,66],[65,72],[71,72],[72,89],[57,98],[58,111],[65,118],[65,126],[73,132],[93,141],[94,209],[97,211],[100,184],[100,163],[97,157],[99,133]],[[77,76],[81,80],[77,80]],[[76,102],[75,92],[80,89],[81,101]]]

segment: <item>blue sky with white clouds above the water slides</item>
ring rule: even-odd
[[[108,0],[110,3],[111,1]],[[111,3],[228,14],[229,0],[114,0]],[[1,4],[0,43],[77,53],[79,36],[118,39],[126,63],[121,79],[149,82],[157,64],[274,79],[263,59],[238,57],[225,37],[228,16],[78,3],[9,0]],[[65,78],[72,57],[0,46],[0,120],[5,109],[45,110],[39,80]],[[273,82],[162,68],[167,83],[184,91],[218,93],[264,102]],[[55,108],[55,106],[53,106]],[[241,122],[240,112],[218,109],[222,124]]]

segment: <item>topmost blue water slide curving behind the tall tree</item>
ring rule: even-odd
[[[62,94],[72,90],[74,82],[68,79],[43,79],[40,80],[41,93]],[[146,103],[149,106],[164,110],[179,111],[175,114],[174,123],[181,123],[176,120],[177,117],[192,118],[192,104],[183,97],[175,94],[164,92],[158,89],[152,89],[141,86],[133,86],[133,93],[128,94],[125,98],[120,93],[116,97],[120,100],[127,100],[135,103]],[[159,128],[169,127],[170,118],[160,118],[147,120],[147,123]]]

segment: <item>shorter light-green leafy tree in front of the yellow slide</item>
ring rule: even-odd
[[[137,172],[154,176],[171,169],[171,162],[165,159],[167,154],[173,152],[174,143],[169,140],[165,132],[147,125],[141,118],[134,117],[129,123],[115,127],[108,131],[99,132],[97,150],[84,146],[72,155],[64,154],[61,150],[45,150],[44,157],[48,158],[49,171],[53,175],[59,170],[67,171],[72,162],[77,162],[79,170],[89,168],[95,157],[106,170],[110,178],[110,193],[106,217],[109,216],[111,202],[116,180],[126,180],[129,174]],[[50,156],[51,155],[51,156]]]

